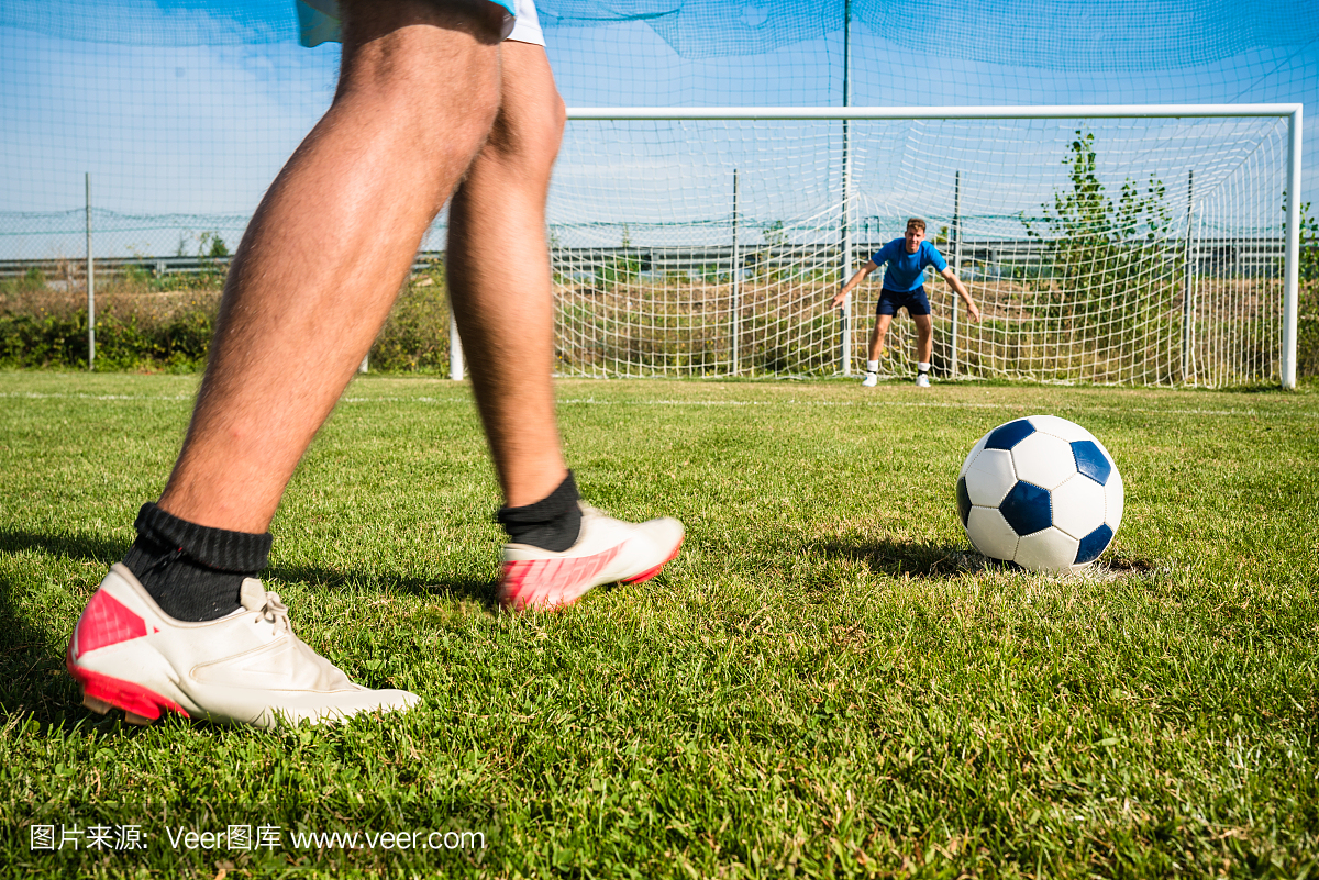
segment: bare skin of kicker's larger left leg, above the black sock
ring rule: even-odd
[[[160,501],[200,526],[268,530],[497,109],[499,21],[487,9],[340,8],[334,104],[243,236]]]

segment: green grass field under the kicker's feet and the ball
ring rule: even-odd
[[[467,389],[361,378],[266,582],[313,647],[423,707],[137,729],[79,706],[63,649],[195,382],[0,373],[3,877],[1319,869],[1312,390],[563,381],[587,498],[689,537],[652,582],[513,617]],[[963,456],[1031,412],[1088,427],[1126,482],[1091,577],[987,566],[958,523]],[[280,846],[204,837],[230,825]],[[33,850],[33,826],[82,846]],[[145,848],[88,848],[133,827]]]

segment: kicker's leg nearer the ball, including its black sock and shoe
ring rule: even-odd
[[[623,523],[580,506],[563,464],[545,203],[565,111],[545,50],[517,37],[501,49],[499,117],[454,195],[447,266],[505,499],[500,522],[510,544],[500,598],[517,609],[547,609],[600,584],[657,573],[678,552],[682,524]]]

